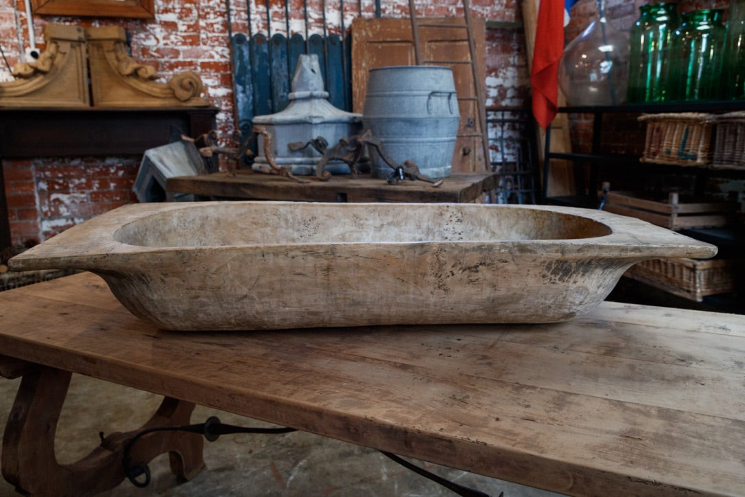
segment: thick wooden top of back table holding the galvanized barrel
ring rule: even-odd
[[[484,191],[495,189],[494,173],[463,173],[447,177],[434,188],[424,181],[402,181],[390,185],[369,174],[336,175],[329,181],[306,177],[308,183],[297,183],[274,174],[241,169],[235,176],[225,172],[200,176],[178,176],[166,180],[169,194],[186,193],[205,197],[255,200],[292,200],[309,202],[422,202],[466,203],[477,200]]]

